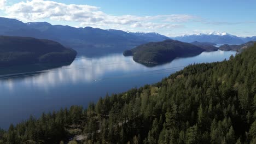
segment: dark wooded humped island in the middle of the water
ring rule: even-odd
[[[144,65],[154,66],[172,61],[176,57],[199,55],[206,51],[199,46],[183,43],[178,40],[164,40],[139,45],[124,51],[124,56],[133,56],[133,60]]]

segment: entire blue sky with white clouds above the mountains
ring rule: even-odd
[[[210,32],[256,35],[255,0],[0,0],[0,16],[168,37]]]

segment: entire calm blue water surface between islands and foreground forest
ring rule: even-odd
[[[176,58],[156,67],[146,67],[122,53],[103,57],[79,56],[68,66],[40,71],[0,75],[0,127],[18,123],[30,115],[59,110],[61,107],[97,101],[106,93],[119,93],[160,81],[192,63],[216,62],[235,55],[235,51],[203,52]]]

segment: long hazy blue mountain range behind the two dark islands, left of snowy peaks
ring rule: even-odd
[[[87,48],[87,52],[100,51],[99,49],[108,52],[123,52],[127,47],[131,48],[149,41],[170,39],[157,33],[129,33],[92,27],[75,28],[51,25],[48,22],[24,23],[4,17],[0,17],[0,35],[50,39],[73,49]]]

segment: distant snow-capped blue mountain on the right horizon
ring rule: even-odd
[[[184,41],[187,43],[191,43],[193,41],[199,41],[199,42],[211,42],[215,44],[243,44],[245,41],[243,41],[241,38],[237,37],[236,35],[231,35],[229,33],[223,33],[223,32],[211,32],[211,33],[199,33],[199,34],[193,34],[193,35],[182,35],[179,37],[174,37],[172,39]]]

